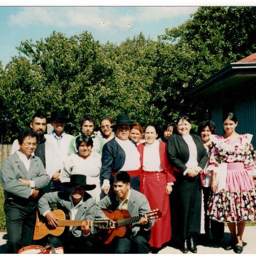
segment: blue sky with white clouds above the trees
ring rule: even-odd
[[[17,55],[15,47],[20,46],[20,42],[26,38],[35,42],[49,37],[53,30],[68,37],[87,30],[101,43],[110,41],[119,44],[140,32],[146,38],[157,40],[157,35],[163,35],[166,28],[179,26],[198,9],[196,6],[0,5],[0,60],[3,67],[11,61],[11,57]],[[101,25],[99,21],[105,24]]]

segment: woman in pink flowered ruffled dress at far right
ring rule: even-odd
[[[208,215],[213,220],[227,222],[231,241],[225,250],[243,251],[245,222],[256,220],[256,189],[250,175],[256,171],[251,134],[237,134],[234,113],[224,116],[221,136],[210,135],[212,146],[208,170],[212,171],[212,196]],[[236,232],[237,223],[237,232]]]

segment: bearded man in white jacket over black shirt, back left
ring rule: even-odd
[[[38,112],[34,116],[32,116],[30,128],[35,131],[39,137],[37,146],[32,155],[35,155],[41,159],[51,181],[57,182],[60,180],[60,171],[63,168],[63,164],[60,157],[58,157],[58,155],[55,153],[54,146],[49,143],[49,141],[44,137],[46,127],[47,120],[44,114]],[[20,145],[18,143],[18,140],[15,140],[12,144],[11,154],[14,154],[19,149]],[[50,188],[48,187],[47,192],[49,192],[49,189]],[[51,190],[55,190],[55,187],[52,186],[52,184]]]

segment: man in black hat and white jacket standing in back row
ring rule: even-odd
[[[45,137],[47,141],[54,145],[55,151],[63,163],[67,158],[70,141],[74,138],[74,136],[64,131],[65,125],[67,122],[70,122],[70,119],[66,117],[63,111],[53,111],[52,116],[47,120],[51,122],[53,131],[46,134]]]

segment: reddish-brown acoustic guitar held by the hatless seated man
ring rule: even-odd
[[[115,236],[124,236],[126,231],[132,230],[132,223],[139,222],[141,217],[146,217],[148,220],[157,220],[162,218],[163,215],[163,213],[158,209],[134,217],[130,217],[129,212],[123,209],[115,210],[113,212],[103,210],[103,212],[109,219],[116,221],[114,229],[100,230],[100,240],[103,244],[109,244]]]

